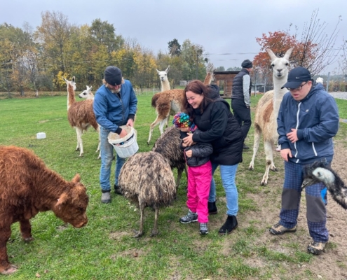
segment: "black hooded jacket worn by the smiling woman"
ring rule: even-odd
[[[203,113],[200,109],[194,111],[193,122],[201,132],[193,134],[193,141],[212,144],[211,162],[236,165],[243,160],[243,132],[228,102],[219,96],[217,85],[211,85],[210,98],[214,102],[207,105]]]

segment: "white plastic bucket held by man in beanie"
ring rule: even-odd
[[[137,132],[134,127],[128,125],[122,125],[121,129],[127,132],[125,137],[119,138],[118,134],[109,132],[107,139],[109,140],[109,144],[114,146],[114,149],[120,158],[129,158],[131,155],[134,155],[139,151],[139,146],[136,141]]]

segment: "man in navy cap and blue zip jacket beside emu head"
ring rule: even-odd
[[[320,83],[313,83],[304,67],[290,71],[283,87],[277,118],[280,155],[285,160],[280,221],[270,228],[273,235],[297,230],[304,167],[315,161],[330,165],[334,155],[332,137],[339,130],[339,111],[334,98]],[[309,253],[320,254],[329,239],[327,223],[327,187],[315,183],[305,188],[307,225],[313,241]]]

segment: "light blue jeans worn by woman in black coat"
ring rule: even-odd
[[[212,163],[212,176],[218,164]],[[226,195],[226,214],[230,216],[236,216],[238,214],[238,189],[236,188],[235,177],[236,171],[238,170],[237,165],[219,165],[221,172],[222,184]],[[216,183],[215,179],[212,178],[210,196],[208,202],[216,201]]]

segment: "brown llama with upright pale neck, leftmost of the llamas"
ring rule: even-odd
[[[74,127],[77,134],[77,146],[76,151],[80,151],[79,156],[83,156],[83,142],[82,134],[90,126],[93,126],[97,133],[100,135],[100,127],[95,119],[95,114],[93,111],[93,99],[83,100],[81,102],[76,102],[75,90],[76,83],[75,77],[72,80],[67,80],[63,78],[67,84],[67,119],[69,124]],[[97,151],[100,151],[100,140],[97,146]],[[100,158],[100,153],[99,157]]]

